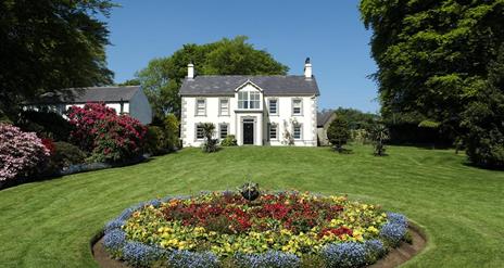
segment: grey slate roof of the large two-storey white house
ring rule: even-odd
[[[257,85],[265,95],[319,95],[315,77],[304,76],[197,76],[186,78],[180,87],[180,95],[232,95],[235,89],[245,81]]]

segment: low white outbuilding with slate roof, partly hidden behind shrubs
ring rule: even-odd
[[[128,114],[143,125],[152,122],[152,107],[139,86],[63,89],[26,102],[23,109],[52,111],[64,115],[71,106],[84,106],[90,102],[103,102],[116,113]]]

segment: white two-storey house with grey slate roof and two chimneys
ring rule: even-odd
[[[306,59],[301,76],[188,76],[180,88],[185,146],[204,141],[202,123],[215,138],[236,136],[239,145],[317,145],[318,86]]]

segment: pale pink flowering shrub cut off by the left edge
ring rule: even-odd
[[[34,132],[0,124],[0,181],[40,171],[49,153],[49,149]]]

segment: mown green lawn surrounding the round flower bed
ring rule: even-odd
[[[90,239],[140,201],[235,189],[251,176],[297,189],[378,203],[421,226],[427,248],[408,267],[502,267],[504,173],[466,166],[453,151],[368,146],[339,155],[318,148],[197,149],[124,168],[0,191],[0,267],[96,267]]]

